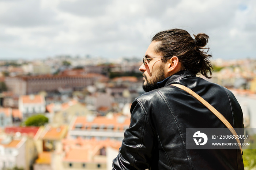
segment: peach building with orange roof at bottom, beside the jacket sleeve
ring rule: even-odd
[[[62,159],[63,170],[107,170],[108,148],[116,150],[121,146],[120,141],[106,139],[63,139]],[[112,163],[112,161],[111,161]]]

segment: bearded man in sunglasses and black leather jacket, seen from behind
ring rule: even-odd
[[[244,169],[239,149],[186,149],[186,128],[226,128],[193,96],[170,84],[182,84],[215,107],[234,128],[244,128],[241,107],[234,95],[210,78],[208,36],[195,39],[182,29],[157,33],[149,45],[142,71],[143,89],[131,106],[131,124],[125,131],[113,169],[223,170]],[[209,76],[210,75],[210,76]]]

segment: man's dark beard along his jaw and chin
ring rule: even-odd
[[[145,78],[145,79],[143,79],[143,84],[142,84],[143,90],[145,92],[149,92],[151,90],[157,89],[158,88],[157,83],[161,82],[162,80],[165,79],[165,73],[164,73],[163,65],[161,65],[159,67],[158,72],[154,76],[152,76],[150,79],[148,79],[146,77],[146,75],[144,75],[144,73],[142,75]]]

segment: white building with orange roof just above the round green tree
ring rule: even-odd
[[[19,110],[23,119],[38,113],[45,113],[45,98],[43,95],[22,95],[19,97]]]

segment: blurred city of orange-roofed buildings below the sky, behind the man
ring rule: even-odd
[[[0,168],[112,169],[129,127],[131,103],[144,93],[141,64],[132,57],[67,55],[1,60]],[[245,127],[256,128],[256,59],[212,64],[207,80],[229,88]]]

